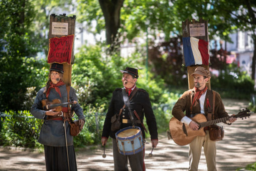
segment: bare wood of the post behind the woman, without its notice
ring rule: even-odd
[[[62,37],[67,35],[75,35],[75,20],[76,16],[73,17],[66,17],[66,14],[56,16],[55,14],[51,14],[50,16],[50,26],[49,26],[49,40],[54,37]],[[68,31],[67,33],[63,34],[55,34],[53,33],[53,22],[54,23],[67,23],[68,24]],[[74,39],[75,40],[75,39]],[[49,41],[50,42],[50,41]],[[71,65],[68,63],[63,63],[63,69],[64,69],[64,75],[63,75],[63,81],[66,85],[71,86],[71,73],[72,73],[72,64],[74,64],[74,43],[73,43],[73,49],[72,49],[72,55],[71,55]],[[50,64],[51,67],[52,64]]]

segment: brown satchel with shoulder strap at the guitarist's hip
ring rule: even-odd
[[[208,115],[207,115],[208,120],[213,120],[214,119],[214,107],[215,107],[216,92],[212,91],[212,93],[213,93],[213,98],[210,98],[210,99],[213,99],[213,101],[212,101],[212,113],[208,112]],[[222,140],[223,137],[224,137],[223,126],[218,126],[218,125],[209,126],[209,135],[210,135],[210,140],[212,140],[212,141]]]

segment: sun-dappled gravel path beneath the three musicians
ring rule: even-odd
[[[229,114],[236,114],[248,105],[247,101],[240,100],[224,99],[223,102]],[[252,114],[249,119],[238,118],[232,125],[223,124],[223,126],[224,139],[217,142],[218,171],[235,170],[255,162],[256,114]],[[113,170],[113,156],[109,142],[106,158],[102,158],[103,148],[100,145],[92,146],[91,149],[76,149],[78,170]],[[188,145],[176,145],[163,133],[159,135],[159,145],[154,149],[153,157],[148,156],[151,149],[151,145],[147,144],[145,154],[147,170],[187,170]],[[198,170],[207,170],[203,150],[198,168]],[[1,147],[0,170],[45,170],[44,152]]]

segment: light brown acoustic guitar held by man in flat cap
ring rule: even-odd
[[[238,114],[232,116],[235,118],[242,118],[249,117],[251,112],[246,109],[243,111],[240,111]],[[170,135],[168,138],[172,138],[173,141],[178,145],[187,145],[189,144],[196,136],[205,136],[206,133],[204,131],[204,127],[214,125],[216,123],[225,122],[227,121],[231,116],[210,120],[207,121],[205,115],[203,114],[197,114],[194,117],[190,118],[193,121],[197,122],[199,125],[198,130],[193,130],[189,127],[189,125],[182,123],[175,117],[172,117],[169,122],[169,129],[170,129]],[[169,131],[167,131],[167,134]]]

